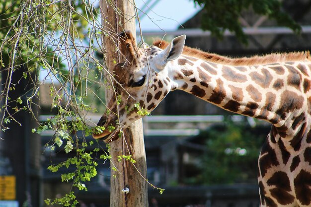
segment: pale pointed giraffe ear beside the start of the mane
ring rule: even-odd
[[[175,37],[171,43],[162,51],[163,61],[169,62],[178,58],[185,46],[186,35]]]

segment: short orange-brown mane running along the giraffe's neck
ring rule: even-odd
[[[166,48],[166,46],[169,45],[169,43],[164,40],[155,40],[153,45],[160,49],[164,49]],[[291,52],[291,53],[271,53],[264,56],[230,58],[227,56],[221,56],[215,53],[207,53],[199,49],[184,46],[182,54],[217,64],[224,64],[231,66],[264,65],[264,64],[284,63],[291,61],[311,61],[310,51]]]

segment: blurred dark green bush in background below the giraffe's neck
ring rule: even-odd
[[[207,138],[202,160],[205,184],[252,182],[257,178],[257,160],[268,129],[227,122],[200,134]]]

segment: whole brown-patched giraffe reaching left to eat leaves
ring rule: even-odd
[[[113,141],[169,91],[184,90],[272,124],[258,159],[261,207],[311,206],[309,52],[231,59],[184,46],[185,35],[140,49],[131,33],[120,36],[127,61],[114,67],[117,95],[97,124],[106,129],[93,138]]]

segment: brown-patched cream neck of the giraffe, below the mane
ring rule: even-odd
[[[169,75],[175,83],[172,90],[181,89],[225,110],[268,121],[281,137],[288,138],[306,122],[309,67],[310,62],[227,66],[181,56],[171,63]]]

